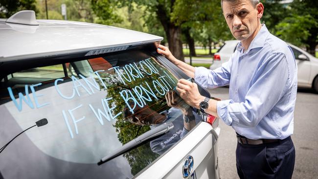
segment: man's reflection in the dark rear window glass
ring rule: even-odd
[[[174,90],[168,91],[165,94],[165,98],[167,105],[171,108],[160,113],[150,109],[147,105],[142,108],[136,106],[134,114],[127,105],[123,110],[126,120],[136,125],[149,125],[151,129],[158,127],[164,122],[173,123],[174,127],[169,133],[150,141],[151,150],[159,155],[178,142],[201,120],[200,116],[193,112],[192,108]]]

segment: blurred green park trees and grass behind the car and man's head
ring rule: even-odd
[[[318,57],[317,0],[261,0],[261,19],[275,36]],[[164,37],[172,53],[209,67],[233,39],[220,0],[0,0],[0,18],[34,10],[37,19],[100,23]],[[192,58],[193,57],[193,58]],[[192,61],[192,59],[194,59]]]

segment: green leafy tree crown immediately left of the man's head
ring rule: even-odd
[[[211,55],[212,42],[232,38],[219,0],[177,0],[176,4],[172,19],[182,24],[190,54],[195,55],[193,39],[209,46]]]

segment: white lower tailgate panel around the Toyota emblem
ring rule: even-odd
[[[201,122],[182,141],[136,178],[180,179],[184,159],[190,155],[194,159],[193,171],[196,171],[196,178],[214,179],[216,176],[214,150],[217,150],[215,134],[211,125]]]

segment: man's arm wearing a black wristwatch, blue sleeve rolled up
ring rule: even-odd
[[[233,100],[209,101],[205,111],[220,117],[227,125],[238,127],[254,127],[272,110],[280,100],[286,87],[291,85],[293,67],[288,67],[286,56],[275,53],[258,68],[258,78],[246,94],[245,101]],[[279,77],[279,78],[278,78]],[[180,79],[177,90],[181,98],[190,106],[199,109],[199,104],[204,100],[195,83]]]

